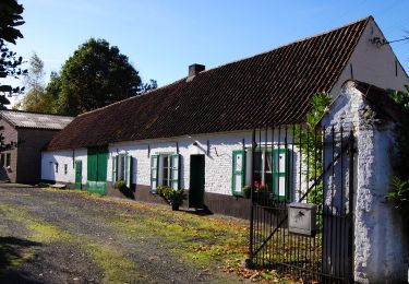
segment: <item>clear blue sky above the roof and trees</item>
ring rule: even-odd
[[[408,0],[21,0],[26,23],[12,49],[45,61],[46,81],[89,37],[119,47],[159,86],[373,15],[388,40],[409,36]],[[408,31],[408,32],[406,32]],[[409,40],[393,49],[409,71]]]

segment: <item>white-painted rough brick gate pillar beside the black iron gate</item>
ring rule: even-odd
[[[394,125],[374,125],[362,117],[362,94],[348,82],[323,125],[353,129],[354,162],[354,277],[359,283],[401,283],[407,280],[408,248],[400,217],[385,202],[392,173]]]

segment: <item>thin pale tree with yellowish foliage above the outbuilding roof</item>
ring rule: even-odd
[[[35,52],[29,59],[28,73],[24,81],[28,92],[13,108],[36,113],[52,113],[52,98],[47,95],[44,85],[44,62]]]

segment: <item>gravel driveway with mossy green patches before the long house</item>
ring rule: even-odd
[[[246,236],[228,218],[0,187],[0,283],[243,282]]]

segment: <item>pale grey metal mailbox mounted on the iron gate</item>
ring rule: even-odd
[[[310,237],[314,236],[316,233],[315,213],[315,204],[299,202],[288,204],[288,232]]]

